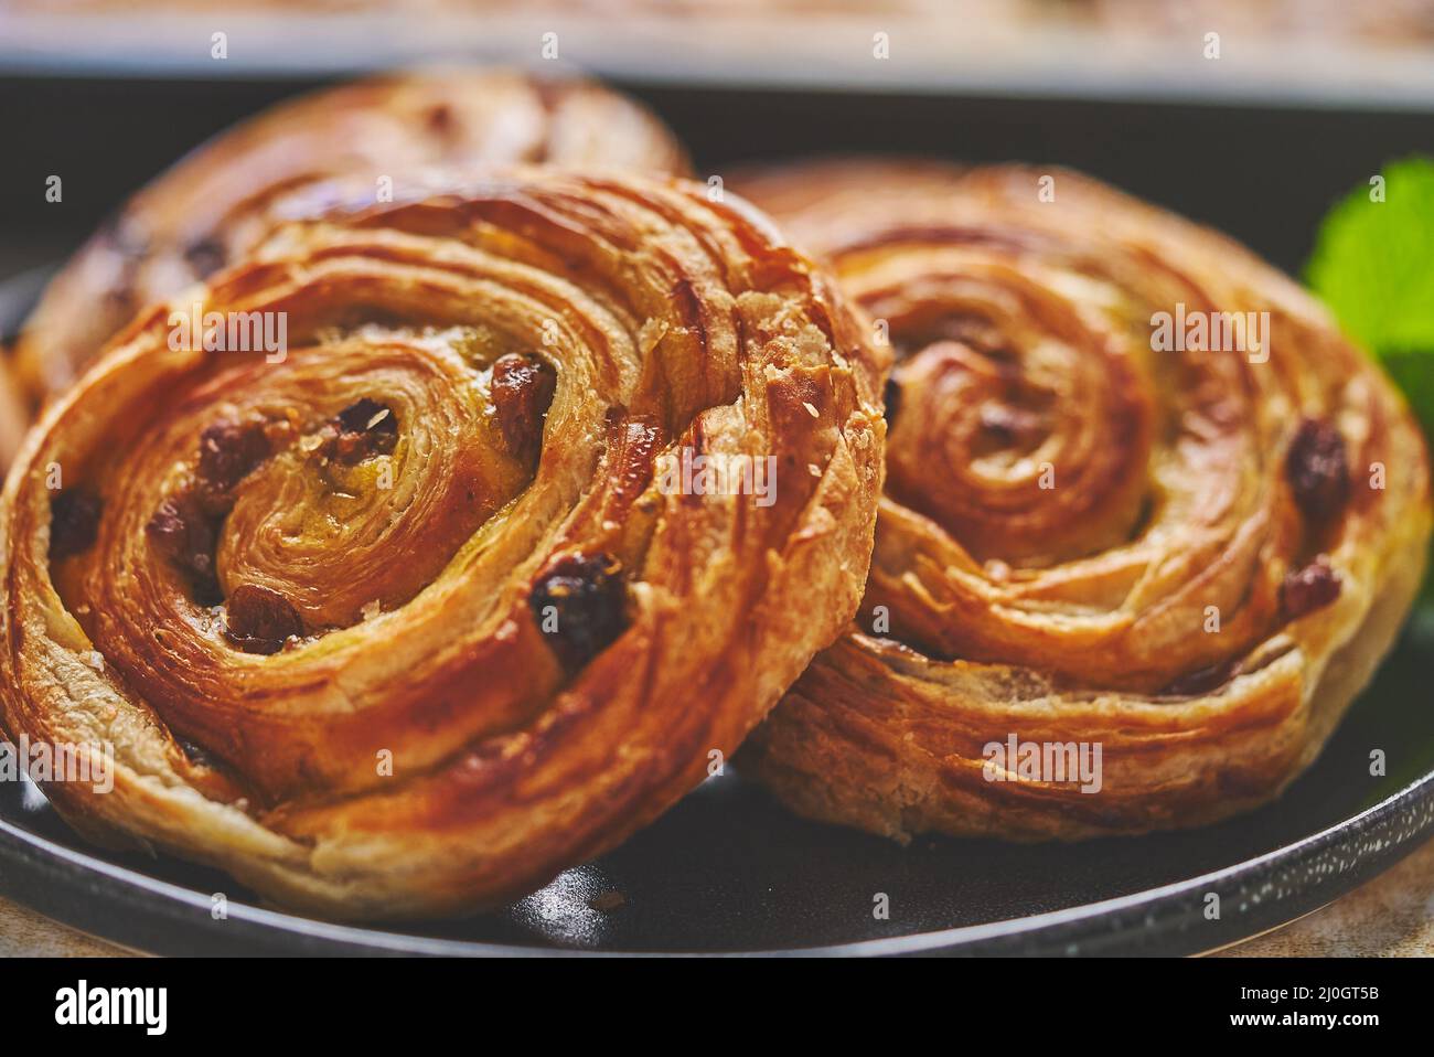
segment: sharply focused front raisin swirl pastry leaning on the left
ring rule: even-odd
[[[885,363],[756,211],[521,169],[284,225],[139,316],[0,502],[6,726],[82,832],[346,918],[492,905],[654,819],[852,618]],[[178,344],[178,349],[172,349]],[[668,456],[770,458],[764,496]],[[52,475],[63,489],[52,490]]]

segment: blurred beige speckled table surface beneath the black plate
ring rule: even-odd
[[[0,899],[0,957],[123,954]],[[1434,842],[1329,906],[1223,954],[1434,957]]]

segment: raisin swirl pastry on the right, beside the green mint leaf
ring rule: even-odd
[[[860,617],[739,763],[898,839],[1136,833],[1276,796],[1420,582],[1425,450],[1384,376],[1246,250],[1077,174],[731,185],[830,258],[896,360]],[[1268,333],[1156,351],[1180,311]]]

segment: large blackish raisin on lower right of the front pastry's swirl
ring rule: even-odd
[[[533,585],[528,605],[552,651],[576,671],[605,650],[625,627],[627,588],[612,555],[566,555]]]

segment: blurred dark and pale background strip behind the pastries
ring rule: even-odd
[[[1289,271],[1336,198],[1434,151],[1434,0],[0,0],[0,278],[278,99],[453,60],[601,76],[706,174],[1074,165]]]

